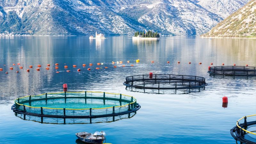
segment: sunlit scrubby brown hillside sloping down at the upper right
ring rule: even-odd
[[[256,0],[251,0],[203,37],[255,37],[256,36]]]

